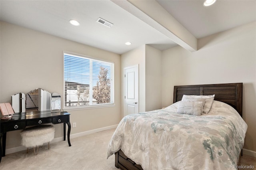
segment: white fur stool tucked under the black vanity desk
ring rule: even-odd
[[[38,154],[38,147],[48,142],[48,149],[50,149],[50,141],[54,139],[54,127],[52,125],[39,125],[35,127],[25,128],[20,132],[21,144],[28,148],[34,148],[34,154]],[[35,152],[37,146],[37,153]]]

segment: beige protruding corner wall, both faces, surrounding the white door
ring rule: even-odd
[[[139,112],[161,109],[161,51],[142,45],[121,55],[121,71],[139,65]],[[124,112],[124,76],[121,78],[121,110]]]

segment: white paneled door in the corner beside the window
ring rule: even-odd
[[[124,116],[139,112],[138,65],[124,68]]]

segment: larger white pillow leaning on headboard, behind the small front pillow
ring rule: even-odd
[[[203,113],[209,113],[215,95],[183,95],[181,101],[185,101],[188,98],[202,98],[205,99]]]

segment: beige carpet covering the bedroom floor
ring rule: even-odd
[[[34,155],[31,148],[2,157],[0,170],[117,170],[114,155],[107,158],[108,142],[115,129],[70,139],[72,144],[61,141],[39,148]],[[254,165],[256,158],[244,155],[242,165]]]

